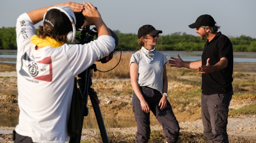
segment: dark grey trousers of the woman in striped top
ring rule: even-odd
[[[168,143],[176,143],[180,135],[180,126],[174,113],[172,111],[171,104],[167,101],[167,107],[163,110],[160,110],[158,106],[162,94],[149,87],[140,87],[141,93],[145,98],[147,104],[150,107],[150,110],[156,116],[158,122],[162,125],[163,131],[166,135],[166,141]],[[146,113],[142,110],[140,100],[137,95],[133,92],[132,97],[132,110],[135,114],[135,119],[137,122],[137,133],[135,142],[136,143],[147,143],[150,139],[150,112]]]

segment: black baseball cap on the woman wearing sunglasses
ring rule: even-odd
[[[138,30],[138,38],[140,39],[144,35],[155,35],[157,33],[163,33],[161,30],[156,30],[152,25],[143,25]]]

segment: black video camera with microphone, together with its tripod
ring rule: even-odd
[[[80,31],[80,30],[77,30],[77,31]],[[117,35],[115,34],[115,32],[110,30],[110,33],[111,33],[112,37],[115,39],[115,44],[117,47],[117,45],[119,43],[119,39],[118,39]],[[90,26],[87,26],[81,31],[81,33],[80,33],[81,38],[76,37],[75,43],[76,44],[89,43],[90,41],[93,41],[94,36],[97,37],[97,35],[98,35],[98,33],[97,33],[96,28],[93,28],[90,30]],[[122,50],[120,48],[115,49],[108,56],[100,59],[99,61],[101,61],[101,63],[108,62],[109,60],[112,59],[113,53],[116,53],[117,50],[120,50],[120,52],[121,52],[120,59],[118,61],[118,64],[119,64],[119,62],[121,60],[121,55],[122,55]],[[113,70],[114,68],[112,68],[111,70]],[[91,81],[91,76],[93,75],[93,71],[95,71],[95,72],[97,71],[95,64],[91,65],[89,68],[87,68],[85,71],[83,71],[82,73],[80,73],[78,75],[78,77],[80,77],[80,78],[78,79],[77,83],[80,87],[79,89],[80,89],[80,93],[82,95],[82,96],[80,96],[80,101],[82,101],[82,102],[80,102],[81,126],[83,126],[84,116],[88,115],[87,101],[88,101],[88,96],[90,96],[91,104],[93,105],[95,116],[96,116],[98,126],[100,129],[100,135],[102,137],[102,141],[103,141],[103,143],[109,143],[109,138],[106,133],[105,124],[104,124],[102,114],[100,111],[100,106],[99,106],[100,101],[98,100],[97,93],[94,91],[93,88],[91,88],[91,85],[93,84]],[[98,71],[100,71],[100,70],[98,70]],[[108,70],[108,71],[110,71],[110,70]],[[100,71],[100,72],[108,72],[108,71]],[[70,143],[80,143],[81,135],[82,135],[82,129],[79,130],[79,134],[75,135],[74,137],[70,137]]]

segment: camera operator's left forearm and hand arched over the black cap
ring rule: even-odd
[[[52,6],[68,6],[73,10],[73,12],[81,12],[84,9],[84,5],[76,2],[66,2],[62,4],[55,4]],[[52,6],[39,8],[37,10],[30,11],[27,14],[30,17],[30,19],[33,21],[33,23],[37,24],[38,22],[43,20],[45,12],[48,10],[48,8]]]

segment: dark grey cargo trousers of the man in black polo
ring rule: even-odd
[[[233,94],[233,91],[225,94],[201,94],[203,133],[209,143],[229,143],[228,106]]]

